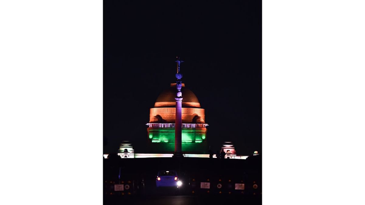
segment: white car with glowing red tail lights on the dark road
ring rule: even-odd
[[[160,170],[157,173],[157,187],[180,187],[183,183],[179,180],[175,170]]]

